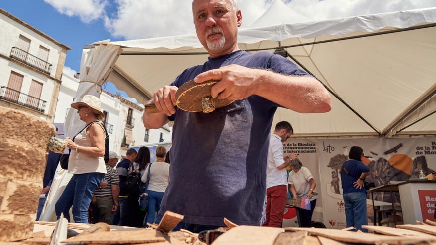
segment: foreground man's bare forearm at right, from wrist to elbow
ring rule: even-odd
[[[287,76],[258,70],[254,94],[300,113],[331,110],[331,98],[324,86],[310,76]]]

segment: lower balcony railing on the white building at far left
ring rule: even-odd
[[[41,112],[44,112],[44,109],[46,108],[46,101],[23,94],[5,86],[0,88],[0,99],[20,104]]]

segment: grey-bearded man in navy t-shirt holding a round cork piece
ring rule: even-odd
[[[155,92],[153,100],[161,113],[143,116],[146,128],[174,121],[170,183],[157,221],[170,210],[183,214],[182,228],[193,232],[223,226],[224,217],[241,225],[259,225],[277,106],[301,113],[327,112],[330,95],[280,55],[239,50],[242,15],[236,0],[194,0],[192,11],[208,60]],[[220,80],[211,96],[235,102],[211,113],[176,110],[176,91],[191,79]]]

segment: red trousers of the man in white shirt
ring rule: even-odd
[[[267,189],[267,221],[262,226],[281,227],[286,205],[287,186],[279,185]]]

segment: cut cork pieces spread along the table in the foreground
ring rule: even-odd
[[[68,228],[79,234],[69,230],[72,237],[61,242],[90,245],[208,245],[199,241],[198,234],[183,229],[171,231],[182,219],[183,215],[167,211],[159,225],[146,229],[109,226],[104,223],[70,223]],[[425,223],[418,222],[417,225],[398,225],[397,228],[364,226],[369,233],[349,229],[238,226],[227,219],[224,219],[224,223],[227,227],[220,230],[225,232],[212,245],[436,245],[436,223],[429,220]],[[51,244],[54,225],[54,222],[37,222],[33,238],[13,244]],[[52,228],[48,229],[50,226]]]

